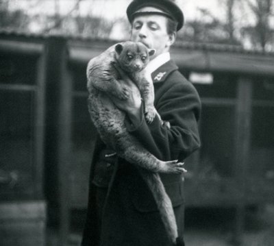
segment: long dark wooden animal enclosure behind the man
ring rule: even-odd
[[[1,182],[1,204],[47,203],[47,220],[59,223],[62,241],[73,211],[87,206],[95,127],[86,64],[113,44],[0,34],[0,169],[15,181]],[[190,80],[193,73],[212,76],[193,81],[202,146],[186,160],[186,206],[237,208],[240,238],[245,207],[274,197],[274,56],[187,44],[171,57]]]

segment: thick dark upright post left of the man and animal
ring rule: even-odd
[[[60,245],[69,238],[69,163],[71,153],[71,77],[67,41],[47,39],[46,169],[49,209],[58,217]],[[57,187],[57,189],[55,189]],[[58,201],[58,206],[55,206]],[[54,214],[53,212],[53,214]]]

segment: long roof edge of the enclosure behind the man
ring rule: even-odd
[[[69,60],[87,64],[88,60],[113,45],[115,40],[55,34],[26,34],[0,32],[0,49],[3,52],[33,53],[44,49],[44,39],[62,37],[68,40]],[[171,49],[171,57],[181,69],[190,71],[225,72],[245,75],[274,76],[274,53],[246,51],[233,45],[180,42]]]

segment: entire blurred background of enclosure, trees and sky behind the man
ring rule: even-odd
[[[159,0],[160,1],[160,0]],[[0,245],[79,245],[95,127],[86,64],[130,0],[0,0]],[[186,245],[273,245],[274,1],[177,0],[171,57],[202,101]]]

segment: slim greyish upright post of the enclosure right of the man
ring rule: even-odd
[[[235,134],[235,177],[238,184],[239,197],[236,204],[236,225],[234,244],[241,244],[242,232],[245,225],[246,180],[248,175],[250,139],[251,139],[251,110],[252,110],[252,81],[246,77],[238,79],[236,104],[236,134]]]

